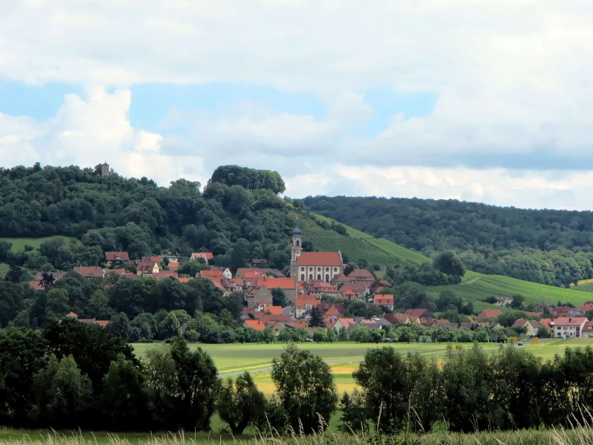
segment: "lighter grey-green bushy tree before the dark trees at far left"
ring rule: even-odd
[[[35,377],[36,417],[56,428],[84,425],[84,412],[93,395],[91,381],[81,373],[72,355],[61,360],[50,355],[47,367]]]

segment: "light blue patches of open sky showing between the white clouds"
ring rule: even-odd
[[[30,116],[45,120],[56,115],[66,94],[83,94],[82,85],[48,82],[27,85],[24,82],[0,80],[0,113]],[[107,91],[113,91],[107,88]],[[274,112],[311,115],[322,120],[327,104],[313,91],[281,91],[273,87],[253,84],[216,82],[203,85],[138,84],[130,87],[132,101],[129,119],[132,126],[158,132],[163,136],[187,136],[192,120],[200,113],[217,119],[227,110],[241,103],[260,103]],[[437,96],[434,93],[397,93],[386,87],[357,91],[372,108],[372,118],[362,137],[372,138],[387,128],[389,119],[403,113],[406,119],[423,117],[432,112]],[[167,120],[171,110],[183,119]]]

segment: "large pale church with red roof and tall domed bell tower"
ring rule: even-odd
[[[292,231],[291,277],[298,281],[320,279],[330,282],[343,271],[341,252],[303,252],[301,229],[295,227]]]

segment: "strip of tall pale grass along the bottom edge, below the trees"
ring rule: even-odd
[[[250,437],[205,435],[204,433],[177,434],[120,434],[108,433],[56,433],[55,431],[0,430],[0,444],[4,445],[180,445],[200,443],[240,443],[246,445],[588,445],[593,443],[593,430],[588,426],[573,430],[519,430],[476,432],[471,434],[432,433],[396,436],[374,434],[340,434],[327,431],[310,436],[291,435],[286,437]]]

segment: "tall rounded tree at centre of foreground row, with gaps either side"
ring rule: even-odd
[[[329,424],[337,393],[329,365],[321,357],[289,345],[272,361],[272,380],[294,431],[313,433],[319,417]]]

